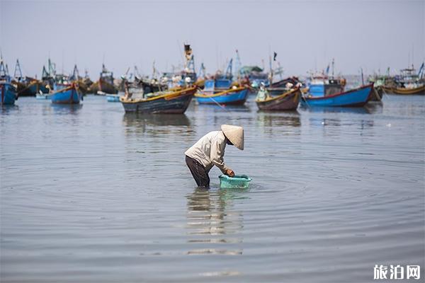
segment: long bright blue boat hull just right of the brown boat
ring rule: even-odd
[[[373,83],[349,91],[334,93],[329,96],[304,96],[302,105],[331,107],[361,107],[365,105],[373,91]]]

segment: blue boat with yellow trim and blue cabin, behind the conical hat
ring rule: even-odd
[[[243,105],[248,96],[247,86],[232,86],[229,79],[205,81],[204,90],[195,94],[200,104]]]

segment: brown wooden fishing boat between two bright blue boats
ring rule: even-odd
[[[300,88],[290,91],[282,88],[280,95],[271,96],[266,100],[255,100],[255,102],[260,110],[296,110],[300,104],[301,95]]]

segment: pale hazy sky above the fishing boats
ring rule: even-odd
[[[410,1],[5,1],[0,49],[13,73],[40,76],[50,58],[58,71],[77,63],[98,76],[135,64],[151,74],[182,62],[193,48],[196,71],[222,68],[238,49],[242,64],[268,66],[278,53],[285,75],[324,69],[332,58],[343,74],[407,67],[425,59],[425,0]],[[413,56],[412,56],[413,54]],[[63,63],[62,63],[63,62]]]

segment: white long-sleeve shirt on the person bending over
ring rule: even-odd
[[[205,134],[196,144],[193,144],[184,154],[201,163],[206,171],[210,171],[212,166],[217,166],[222,173],[227,171],[223,156],[225,156],[225,148],[227,138],[222,131],[214,131]]]

